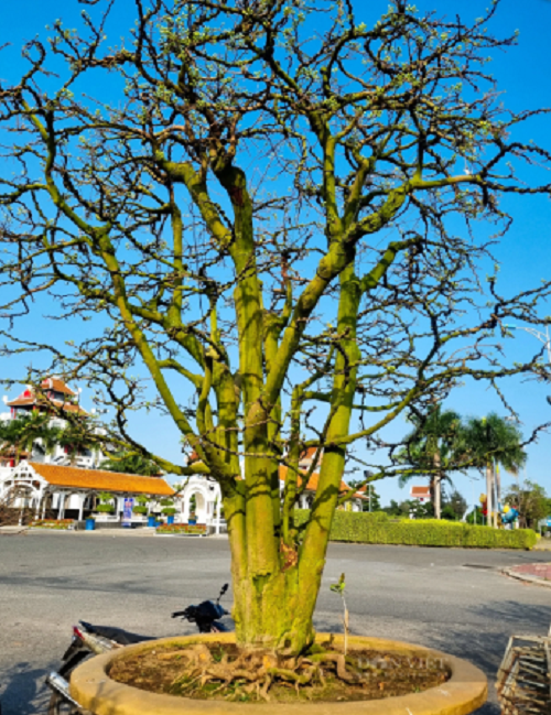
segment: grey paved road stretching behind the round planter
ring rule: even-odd
[[[446,650],[493,680],[508,636],[542,633],[551,620],[549,589],[495,568],[550,560],[544,552],[333,544],[316,628],[341,630],[341,603],[329,584],[345,572],[355,632]],[[79,618],[147,635],[191,632],[170,613],[216,596],[228,570],[224,539],[1,535],[2,715],[45,712],[44,674],[58,663]],[[479,715],[497,713],[491,695]]]

